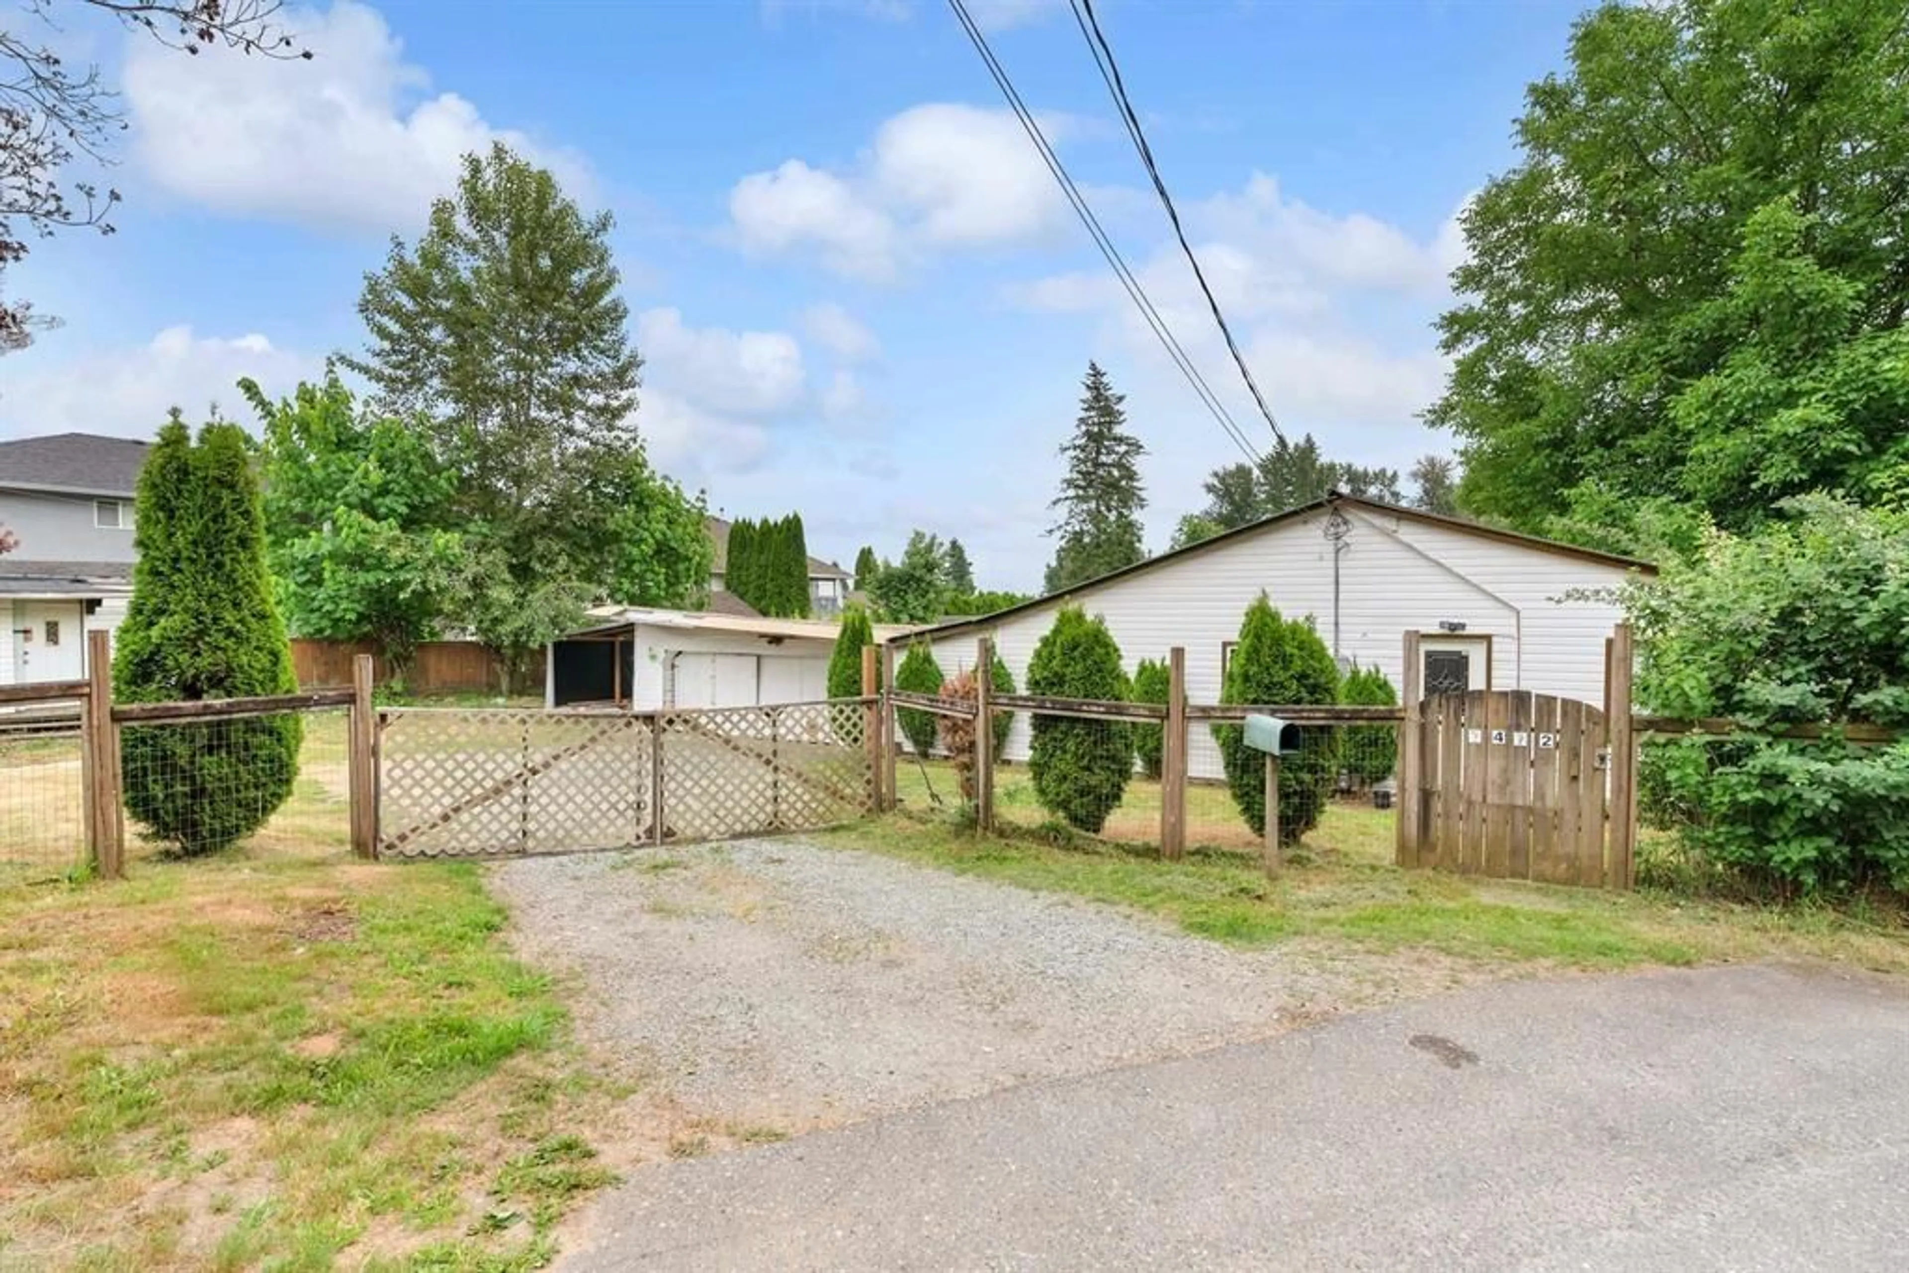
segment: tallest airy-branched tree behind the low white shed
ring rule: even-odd
[[[384,269],[365,277],[368,344],[344,359],[382,408],[424,422],[456,473],[460,521],[525,595],[605,595],[624,567],[594,502],[641,452],[641,361],[609,231],[607,212],[586,218],[502,143],[468,155],[418,242],[393,239]],[[479,595],[460,605],[489,607]],[[557,636],[493,630],[531,645]]]

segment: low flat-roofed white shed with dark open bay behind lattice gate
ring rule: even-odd
[[[657,708],[743,708],[829,697],[840,626],[710,611],[599,607],[596,622],[552,641],[544,704],[620,702]],[[909,628],[878,626],[876,641]]]

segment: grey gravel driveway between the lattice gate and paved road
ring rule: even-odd
[[[687,1113],[808,1130],[1394,998],[1373,962],[777,840],[504,863],[519,949]],[[1439,985],[1455,975],[1428,970]]]

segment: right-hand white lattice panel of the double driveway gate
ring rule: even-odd
[[[872,805],[861,704],[662,712],[662,826],[725,840],[832,826]]]

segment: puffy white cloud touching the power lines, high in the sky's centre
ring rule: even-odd
[[[1042,128],[1058,139],[1073,124]],[[886,120],[848,174],[790,158],[743,177],[729,218],[745,250],[813,248],[836,273],[886,281],[930,250],[1052,235],[1067,202],[1008,111],[928,103]]]

